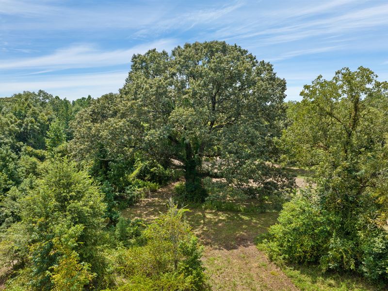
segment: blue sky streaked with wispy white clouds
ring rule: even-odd
[[[388,80],[388,1],[0,0],[0,97],[117,92],[134,53],[225,40],[303,85],[363,65]]]

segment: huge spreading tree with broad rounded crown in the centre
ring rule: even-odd
[[[183,169],[194,200],[205,198],[201,178],[215,170],[245,186],[281,181],[267,162],[276,153],[285,89],[272,65],[237,45],[149,50],[132,57],[119,95],[103,96],[79,115],[74,148],[89,157],[97,150],[101,161],[142,151]],[[204,167],[207,160],[214,163]]]

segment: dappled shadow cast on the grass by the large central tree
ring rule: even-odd
[[[151,222],[167,210],[167,200],[173,196],[174,184],[163,187],[150,197],[122,211],[127,218],[141,218]],[[189,205],[187,221],[204,245],[215,249],[237,249],[250,246],[260,233],[275,224],[277,212],[242,213],[227,210],[207,210],[201,205]]]

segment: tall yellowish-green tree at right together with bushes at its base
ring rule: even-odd
[[[284,158],[315,165],[316,185],[308,203],[294,199],[271,228],[279,256],[387,280],[388,83],[376,79],[367,68],[344,68],[290,104]]]

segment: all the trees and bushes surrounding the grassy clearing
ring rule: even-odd
[[[133,55],[117,94],[1,98],[1,286],[211,290],[188,219],[210,209],[275,213],[256,243],[278,266],[386,290],[388,82],[333,74],[285,102],[270,63],[196,42]],[[303,187],[290,169],[309,173]],[[129,218],[161,189],[157,218]]]

